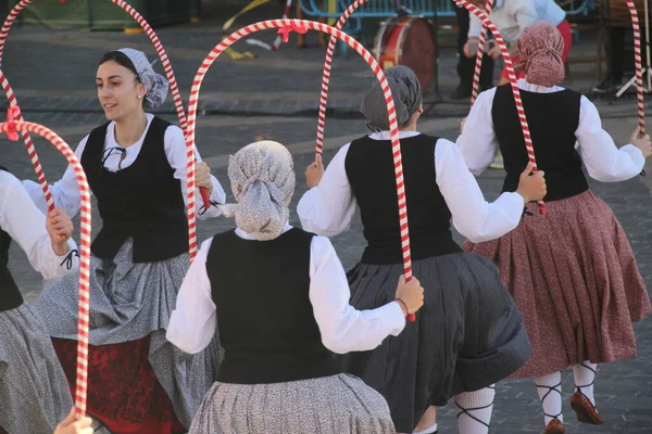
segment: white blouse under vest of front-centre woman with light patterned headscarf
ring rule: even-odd
[[[284,232],[291,228],[286,224]],[[236,234],[253,240],[240,229],[236,229]],[[201,352],[211,343],[218,321],[206,273],[212,241],[201,244],[184,279],[167,327],[167,340],[190,354]],[[335,353],[373,349],[388,335],[397,336],[405,327],[398,303],[372,310],[355,310],[349,305],[351,293],[344,269],[330,241],[323,237],[314,237],[311,242],[309,296],[322,342]]]

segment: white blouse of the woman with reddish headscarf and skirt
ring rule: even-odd
[[[549,88],[530,85],[523,78],[517,85],[519,89],[537,93],[564,90],[559,86]],[[496,88],[492,88],[478,95],[456,141],[468,168],[475,175],[480,175],[489,167],[499,149],[491,117],[494,94]],[[575,137],[579,141],[579,154],[589,176],[598,181],[624,181],[634,178],[643,169],[645,157],[642,152],[634,144],[617,149],[611,136],[602,129],[598,108],[584,95],[580,100],[579,125]]]

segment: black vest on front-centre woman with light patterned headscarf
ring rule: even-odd
[[[335,375],[309,298],[313,234],[291,229],[272,241],[213,238],[206,259],[225,357],[217,381],[280,383]]]

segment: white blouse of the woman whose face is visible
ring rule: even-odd
[[[147,131],[149,130],[153,117],[154,115],[149,113],[147,114],[147,128],[138,141],[128,148],[121,146],[115,140],[115,123],[112,122],[109,124],[109,128],[106,129],[106,139],[104,140],[103,154],[105,156],[104,167],[108,170],[115,173],[134,164],[138,157],[138,154],[140,153],[140,149],[142,148],[145,137],[147,136]],[[86,136],[82,142],[79,142],[79,145],[75,150],[75,155],[79,161],[82,159],[82,154],[86,149],[87,141],[88,136]],[[167,156],[170,166],[174,169],[174,178],[181,181],[181,194],[184,196],[184,203],[186,203],[186,140],[184,139],[183,130],[177,126],[170,126],[165,130],[164,141],[165,155]],[[122,149],[124,152],[112,152],[111,150],[114,148]],[[125,154],[124,158],[122,155],[123,153]],[[201,156],[199,155],[199,151],[197,149],[195,149],[195,155],[197,157],[197,163],[201,163]],[[224,189],[217,179],[212,175],[211,182],[213,183],[211,202],[216,202],[220,204],[225,203],[226,193],[224,192]],[[47,203],[40,184],[30,180],[25,180],[24,184],[29,192],[32,200],[37,204],[41,212],[46,212]],[[75,170],[72,166],[68,165],[67,169],[63,174],[63,178],[60,181],[57,181],[54,184],[50,186],[50,191],[58,207],[64,209],[70,216],[77,215],[80,207],[79,188],[77,184],[77,178],[75,177]],[[206,219],[211,217],[217,217],[222,214],[220,208],[216,206],[211,206],[208,210],[203,209],[201,196],[199,195],[199,189],[197,189],[197,218]]]

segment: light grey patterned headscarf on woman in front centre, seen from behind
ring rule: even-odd
[[[228,177],[237,203],[220,205],[224,215],[259,241],[278,238],[297,181],[290,152],[272,140],[251,143],[230,156]]]

